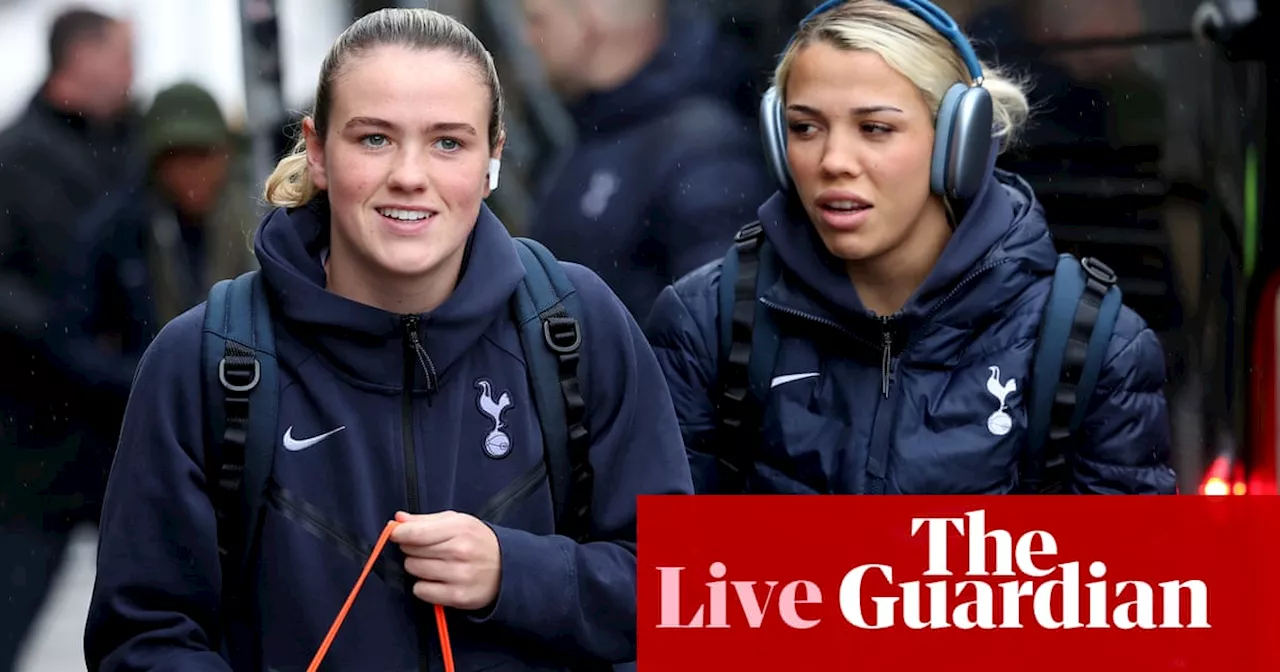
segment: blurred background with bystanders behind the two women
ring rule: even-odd
[[[817,3],[645,0],[655,17],[625,0],[570,15],[561,1],[426,4],[498,60],[509,138],[490,206],[641,315],[772,191],[755,105]],[[262,180],[325,51],[353,18],[397,4],[422,5],[0,0],[0,672],[83,669],[95,512],[136,357],[212,279],[252,266]],[[1034,78],[1037,115],[1002,164],[1032,182],[1060,250],[1115,269],[1160,333],[1181,492],[1275,493],[1276,70],[1262,3],[938,4],[986,58]],[[618,154],[617,134],[658,147]],[[678,178],[698,198],[660,211],[704,229],[650,228],[649,192],[669,182],[634,166],[687,163],[703,168]],[[572,227],[600,218],[621,233],[576,247]]]

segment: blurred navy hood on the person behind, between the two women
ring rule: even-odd
[[[643,124],[691,96],[730,101],[742,109],[749,96],[751,59],[698,13],[673,10],[667,36],[630,81],[596,91],[568,106],[580,136],[612,133]]]

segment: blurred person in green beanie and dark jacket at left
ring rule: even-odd
[[[96,396],[92,428],[115,443],[133,370],[169,320],[250,269],[256,221],[236,140],[204,88],[160,91],[142,127],[145,169],[77,229],[54,347]]]

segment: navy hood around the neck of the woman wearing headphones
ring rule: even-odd
[[[781,301],[835,316],[855,330],[882,329],[849,282],[844,261],[827,251],[796,200],[778,192],[759,209],[764,233],[800,287],[780,283]],[[893,316],[904,329],[929,320],[970,321],[1000,310],[1037,276],[1053,271],[1057,252],[1043,209],[1021,178],[992,166],[924,283]],[[977,276],[980,283],[972,282]],[[804,294],[804,296],[800,296]]]

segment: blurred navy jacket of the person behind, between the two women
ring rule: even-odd
[[[644,319],[773,191],[759,127],[737,100],[748,63],[713,22],[673,14],[631,81],[570,108],[577,141],[541,186],[530,237],[600,274]]]

